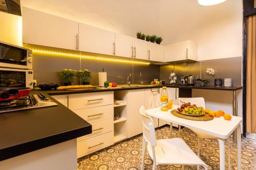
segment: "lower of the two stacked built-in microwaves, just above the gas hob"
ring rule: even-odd
[[[0,68],[0,87],[29,87],[33,89],[33,71]]]

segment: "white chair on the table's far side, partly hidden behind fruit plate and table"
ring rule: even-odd
[[[191,105],[195,104],[195,105],[197,105],[197,107],[202,106],[205,109],[204,98],[179,98],[179,106],[182,105],[182,102],[185,102],[185,103],[190,102]],[[197,155],[200,157],[201,140],[202,139],[217,139],[217,137],[216,136],[212,136],[212,135],[207,134],[207,133],[203,133],[203,132],[197,131],[195,129],[191,129],[191,128],[189,128],[189,129],[191,131],[193,131],[194,133],[196,133],[196,135],[198,137]],[[180,131],[180,128],[179,128],[179,131]],[[229,138],[227,139],[227,143],[228,143],[228,169],[230,169]],[[199,169],[199,167],[198,167],[198,169]]]

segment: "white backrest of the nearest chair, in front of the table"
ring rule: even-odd
[[[143,138],[146,140],[146,142],[151,143],[152,147],[155,147],[156,135],[153,119],[146,115],[144,106],[140,107],[140,114],[142,115]]]

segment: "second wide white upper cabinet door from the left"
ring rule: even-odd
[[[114,55],[115,33],[79,23],[79,50]]]

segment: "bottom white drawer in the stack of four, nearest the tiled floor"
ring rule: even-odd
[[[77,158],[91,154],[114,144],[114,132],[104,133],[77,142]]]

